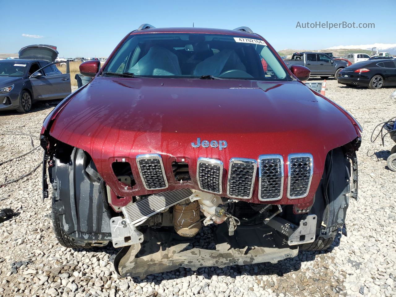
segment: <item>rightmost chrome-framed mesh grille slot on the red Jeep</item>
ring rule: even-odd
[[[287,156],[289,177],[287,181],[287,197],[289,199],[304,198],[308,195],[314,172],[314,158],[311,154],[289,154]]]

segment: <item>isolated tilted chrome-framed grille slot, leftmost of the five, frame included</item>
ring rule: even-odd
[[[168,188],[168,180],[160,154],[142,154],[136,156],[137,168],[146,190]]]

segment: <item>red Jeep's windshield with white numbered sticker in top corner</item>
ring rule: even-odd
[[[291,79],[263,40],[224,34],[131,35],[104,72],[167,78]]]

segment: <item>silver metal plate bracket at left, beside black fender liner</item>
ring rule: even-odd
[[[128,224],[122,217],[112,217],[111,238],[114,247],[131,246],[143,242],[143,233],[135,225]]]

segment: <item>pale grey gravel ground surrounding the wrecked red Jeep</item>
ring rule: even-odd
[[[144,280],[118,279],[112,247],[79,251],[60,246],[52,232],[50,200],[41,199],[41,168],[0,188],[0,208],[19,213],[0,223],[2,296],[396,296],[396,173],[386,167],[394,143],[369,141],[371,130],[396,116],[391,88],[348,88],[327,82],[326,95],[350,111],[364,128],[358,152],[360,200],[351,200],[346,226],[326,253],[300,252],[277,264],[179,268]],[[39,135],[53,107],[28,114],[3,112],[0,131]],[[329,123],[331,125],[331,123]],[[38,145],[38,139],[33,139]],[[0,134],[0,162],[32,148],[29,136]],[[368,152],[368,153],[367,153]],[[0,166],[0,183],[30,171],[42,150]],[[203,233],[202,233],[203,235]]]

